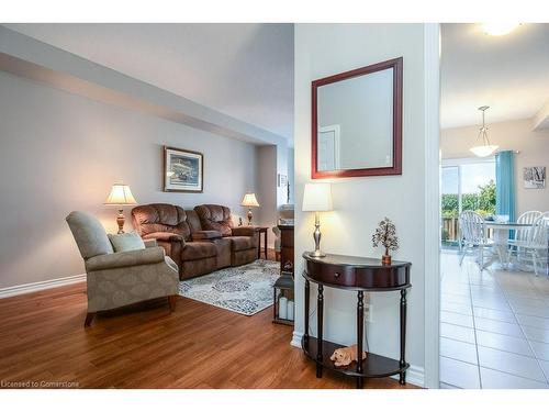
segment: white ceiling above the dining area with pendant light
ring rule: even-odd
[[[549,24],[522,24],[504,36],[481,24],[441,25],[442,129],[533,118],[549,99]]]

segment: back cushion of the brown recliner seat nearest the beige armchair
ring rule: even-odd
[[[132,210],[132,219],[136,232],[141,236],[150,233],[169,232],[183,240],[190,240],[191,230],[187,222],[186,211],[173,204],[153,203],[138,205]]]

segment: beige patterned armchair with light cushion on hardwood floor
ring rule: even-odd
[[[148,241],[141,250],[114,253],[101,223],[90,213],[71,212],[67,223],[86,264],[89,326],[97,312],[168,297],[173,311],[178,267],[164,248]]]

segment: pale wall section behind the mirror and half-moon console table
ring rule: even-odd
[[[295,203],[301,204],[311,176],[311,81],[328,75],[403,56],[403,174],[391,177],[335,179],[334,211],[322,215],[325,252],[381,256],[370,243],[378,222],[394,221],[401,248],[395,259],[412,261],[408,299],[407,360],[424,366],[425,240],[425,98],[423,24],[296,24],[295,41]],[[313,215],[296,208],[295,272],[304,250],[313,248]],[[296,276],[295,336],[303,333],[303,278]],[[315,289],[315,288],[312,288]],[[370,350],[399,358],[399,296],[371,296],[373,322],[367,324]],[[312,294],[312,302],[316,297]],[[312,308],[315,303],[312,303]],[[351,344],[356,339],[356,294],[327,289],[325,336]],[[311,325],[316,324],[313,315]]]

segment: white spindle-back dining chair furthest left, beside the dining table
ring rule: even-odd
[[[492,248],[494,242],[486,237],[484,230],[484,219],[472,210],[466,210],[459,215],[459,227],[461,231],[462,247],[459,265],[463,263],[468,252],[477,249],[479,252],[479,265],[484,269],[484,249]]]

